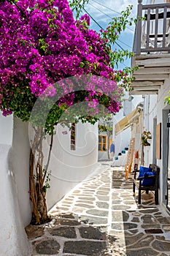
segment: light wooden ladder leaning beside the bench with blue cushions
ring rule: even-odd
[[[134,159],[134,142],[135,139],[132,138],[129,144],[127,159],[125,163],[125,179],[128,179],[128,173],[131,173],[131,165]]]

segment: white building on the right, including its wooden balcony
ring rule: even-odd
[[[144,165],[155,163],[160,167],[159,203],[170,210],[170,105],[165,97],[170,90],[169,1],[139,1],[138,20],[134,37],[132,66],[134,72],[132,95],[143,95],[142,131],[150,131],[150,146],[144,146]]]

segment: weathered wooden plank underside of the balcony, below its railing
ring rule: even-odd
[[[158,94],[170,74],[169,54],[144,54],[132,58],[134,70],[131,95]]]

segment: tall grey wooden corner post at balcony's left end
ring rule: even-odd
[[[141,37],[142,37],[142,0],[138,0],[137,26],[136,26],[136,54],[141,54]]]

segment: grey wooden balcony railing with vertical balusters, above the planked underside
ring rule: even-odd
[[[133,48],[135,55],[170,53],[170,3],[143,5],[142,0],[138,0],[138,3]]]

